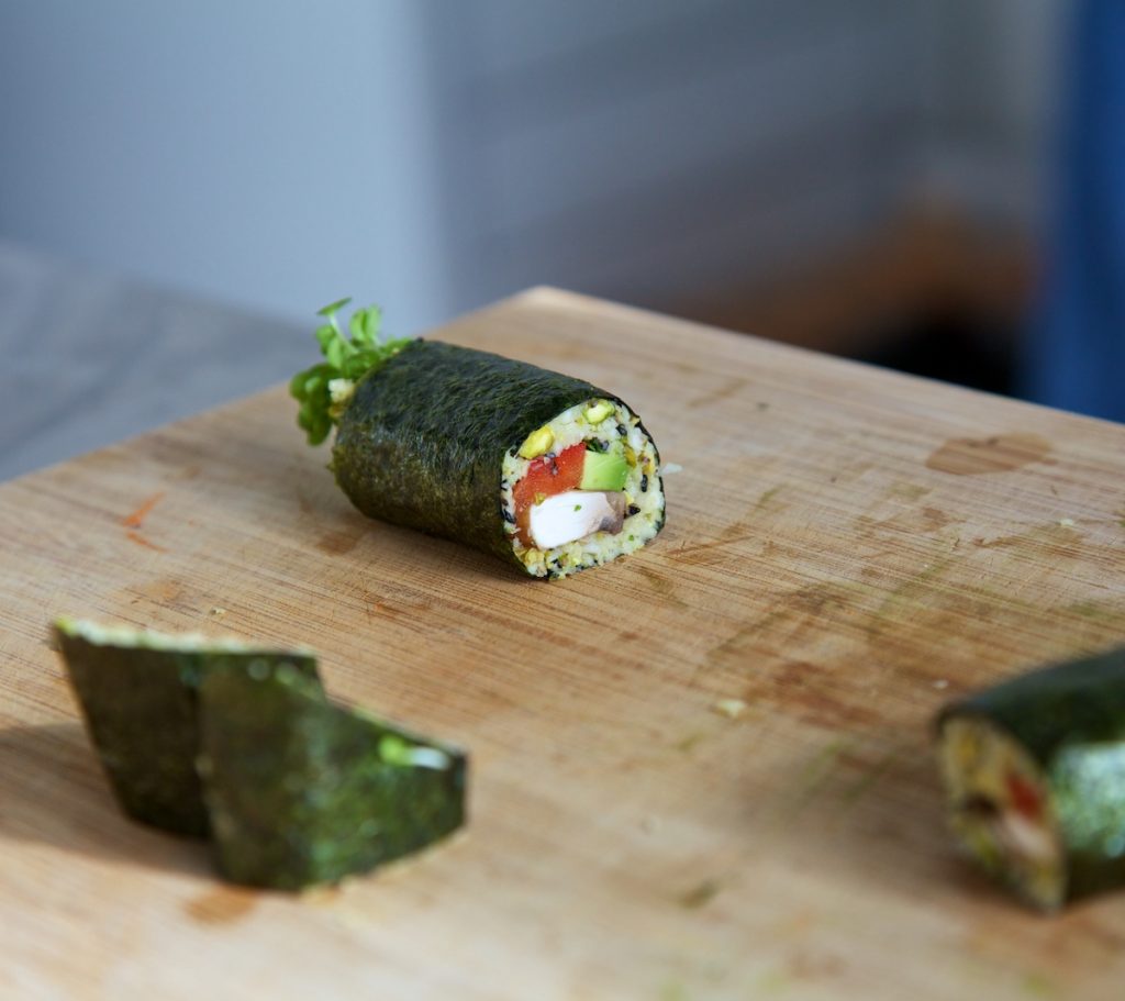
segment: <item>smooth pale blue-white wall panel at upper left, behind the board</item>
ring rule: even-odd
[[[259,309],[446,316],[413,0],[6,0],[0,235]],[[393,290],[389,291],[389,290]]]

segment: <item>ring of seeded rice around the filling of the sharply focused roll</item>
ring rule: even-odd
[[[564,411],[550,424],[530,435],[528,442],[532,443],[532,450],[536,448],[536,435],[541,435],[541,441],[550,442],[546,450],[550,457],[585,442],[595,451],[623,457],[628,472],[622,492],[624,516],[619,532],[598,530],[560,545],[539,548],[526,544],[521,538],[514,496],[516,484],[526,476],[538,456],[526,458],[526,449],[513,449],[505,453],[501,472],[504,526],[513,551],[529,572],[537,577],[565,577],[634,552],[660,530],[664,523],[664,489],[656,447],[641,430],[640,420],[624,404],[598,398],[587,400]]]

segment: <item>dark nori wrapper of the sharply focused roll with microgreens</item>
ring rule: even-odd
[[[504,453],[593,397],[621,402],[522,361],[414,341],[360,380],[340,421],[332,468],[363,514],[525,569],[504,532]]]

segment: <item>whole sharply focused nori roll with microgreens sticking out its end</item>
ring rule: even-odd
[[[370,310],[349,340],[341,305],[317,334],[326,362],[290,388],[310,442],[336,426],[332,470],[363,514],[533,577],[600,566],[660,531],[659,453],[619,397],[483,351],[381,341]]]

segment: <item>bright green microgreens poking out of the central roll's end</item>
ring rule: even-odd
[[[298,372],[289,381],[289,394],[300,403],[297,423],[308,435],[310,445],[328,436],[334,424],[351,400],[356,384],[371,369],[394,358],[408,343],[408,337],[388,339],[380,331],[382,310],[378,306],[357,309],[348,323],[345,336],[336,314],[351,299],[340,299],[318,309],[327,323],[316,328],[324,361]]]

